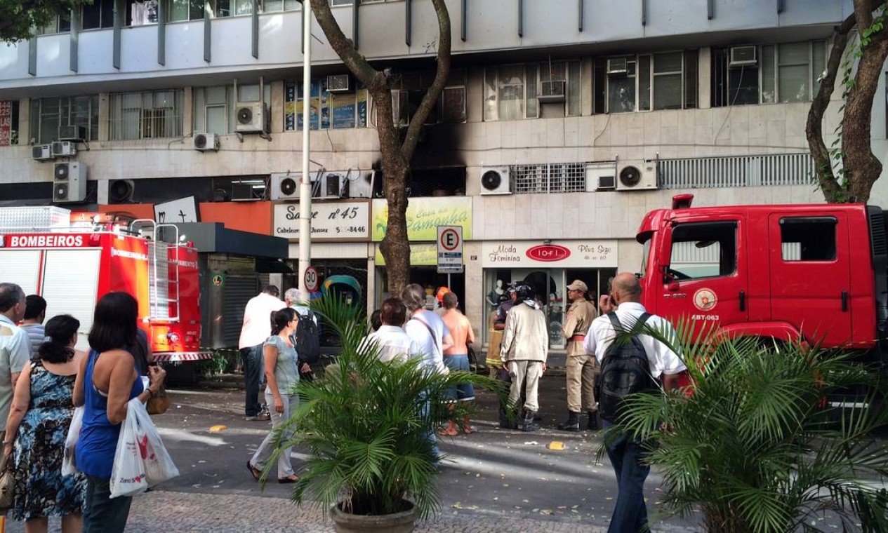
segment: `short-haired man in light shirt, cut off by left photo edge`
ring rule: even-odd
[[[31,340],[16,322],[25,316],[25,292],[14,283],[0,283],[0,440],[6,442],[6,419],[19,374],[31,356]],[[0,462],[5,463],[4,459]]]

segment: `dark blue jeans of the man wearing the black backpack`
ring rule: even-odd
[[[603,420],[606,431],[614,425]],[[614,466],[617,496],[607,533],[638,533],[646,530],[645,479],[651,467],[642,462],[644,449],[641,441],[628,434],[614,435],[607,444],[607,457]],[[607,436],[605,443],[607,443]]]

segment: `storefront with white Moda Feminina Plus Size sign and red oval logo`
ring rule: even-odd
[[[606,292],[608,280],[616,274],[617,241],[485,241],[481,243],[480,259],[485,316],[496,310],[506,286],[524,281],[534,287],[537,300],[543,306],[551,348],[563,349],[561,326],[570,303],[565,287],[580,279],[589,286],[593,301]],[[483,329],[487,342],[487,325]]]

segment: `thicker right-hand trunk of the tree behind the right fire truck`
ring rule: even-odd
[[[881,3],[884,4],[884,3]],[[873,24],[873,2],[855,0],[857,27],[864,35]],[[842,153],[848,174],[848,199],[866,202],[869,192],[882,174],[882,163],[873,155],[871,123],[873,98],[885,57],[888,57],[888,30],[884,28],[868,39],[861,39],[860,63],[854,76],[854,85],[848,91],[842,120]]]

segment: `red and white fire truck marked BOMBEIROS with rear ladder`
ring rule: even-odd
[[[139,325],[156,361],[211,358],[200,349],[197,251],[178,243],[173,224],[137,222],[148,229],[153,226],[150,237],[104,224],[60,224],[34,231],[0,228],[0,280],[17,283],[26,294],[42,295],[47,317],[67,313],[80,320],[80,349],[88,347],[86,335],[99,298],[124,291],[139,302]],[[170,242],[159,236],[170,237]]]

